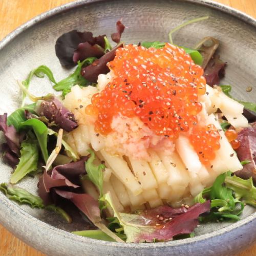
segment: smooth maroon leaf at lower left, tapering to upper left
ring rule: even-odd
[[[98,201],[88,194],[76,194],[69,191],[54,189],[60,197],[69,199],[93,223],[101,221]]]

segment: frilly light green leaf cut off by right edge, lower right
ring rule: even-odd
[[[252,177],[248,180],[234,176],[227,176],[225,184],[234,191],[237,200],[242,200],[246,204],[256,207],[256,187],[252,182]]]

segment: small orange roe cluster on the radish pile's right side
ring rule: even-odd
[[[200,161],[205,164],[215,159],[214,151],[220,148],[220,138],[220,133],[214,124],[208,124],[206,127],[196,125],[189,136]]]

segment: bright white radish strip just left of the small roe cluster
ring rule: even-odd
[[[176,140],[176,148],[189,172],[198,173],[202,164],[188,138],[180,135]]]

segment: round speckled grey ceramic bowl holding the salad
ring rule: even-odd
[[[191,47],[202,37],[221,41],[221,58],[228,62],[223,84],[232,84],[233,95],[255,102],[256,21],[234,9],[206,0],[184,1],[77,1],[41,14],[0,42],[0,113],[14,111],[20,104],[16,80],[33,68],[47,65],[59,80],[63,70],[55,57],[59,35],[72,29],[110,35],[116,20],[129,27],[125,42],[168,39],[170,29],[184,20],[209,15],[205,22],[183,28],[173,38],[177,45]],[[251,86],[252,92],[245,89]],[[51,84],[35,78],[31,91],[44,95]],[[1,140],[3,138],[1,137]],[[0,162],[0,181],[8,182],[11,169]],[[26,178],[20,187],[36,193],[37,178]],[[256,212],[246,206],[237,223],[201,225],[195,238],[151,244],[117,244],[75,236],[67,231],[83,229],[74,221],[67,225],[44,210],[19,206],[0,194],[0,222],[18,238],[50,255],[226,255],[237,253],[256,241]]]

